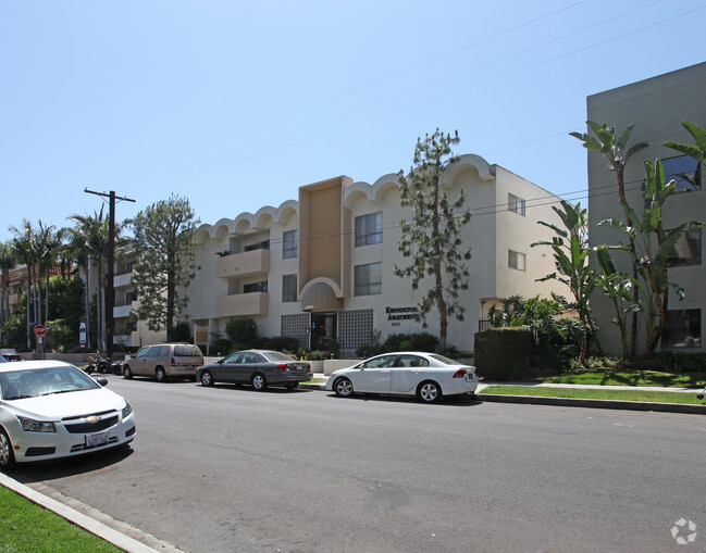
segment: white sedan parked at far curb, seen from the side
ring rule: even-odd
[[[474,393],[475,367],[423,352],[383,353],[329,377],[325,389],[340,398],[354,393],[417,395],[433,403],[444,395]]]

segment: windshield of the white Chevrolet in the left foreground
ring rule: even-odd
[[[2,399],[5,401],[97,388],[100,388],[100,385],[73,366],[28,368],[0,373],[0,389],[2,390]]]

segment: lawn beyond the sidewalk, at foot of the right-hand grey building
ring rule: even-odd
[[[552,384],[602,386],[661,386],[666,388],[701,388],[706,386],[706,373],[660,373],[658,370],[585,370],[566,373],[538,379]]]

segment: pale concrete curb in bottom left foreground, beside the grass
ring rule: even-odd
[[[88,515],[79,513],[75,508],[72,508],[54,499],[45,495],[36,490],[33,490],[24,483],[20,483],[13,478],[0,473],[0,486],[8,488],[9,490],[14,491],[15,493],[28,499],[33,503],[47,508],[55,513],[57,515],[65,518],[70,523],[80,526],[83,529],[89,531],[90,533],[102,538],[106,541],[109,541],[116,548],[120,548],[123,551],[128,553],[157,553],[158,550],[146,545],[145,543],[137,541],[129,536],[124,535],[123,532],[111,528],[110,526],[104,525],[91,518]]]

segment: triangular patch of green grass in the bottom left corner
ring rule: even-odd
[[[65,518],[0,486],[0,553],[120,553]]]

